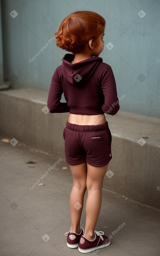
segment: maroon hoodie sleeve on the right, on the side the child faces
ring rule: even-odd
[[[104,95],[102,111],[109,115],[115,115],[119,109],[119,99],[117,98],[116,82],[112,68],[109,66],[101,80],[101,89]]]

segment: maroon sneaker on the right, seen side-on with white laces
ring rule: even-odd
[[[102,231],[95,231],[94,240],[88,240],[84,235],[81,236],[81,239],[78,244],[78,250],[81,253],[90,253],[91,251],[104,248],[111,243],[110,238],[107,235],[104,235]]]

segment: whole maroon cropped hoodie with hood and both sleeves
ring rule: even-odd
[[[112,68],[100,57],[71,64],[73,60],[74,54],[65,54],[53,74],[47,100],[49,112],[115,115],[120,106]],[[66,103],[60,102],[62,93]]]

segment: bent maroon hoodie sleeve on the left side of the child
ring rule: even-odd
[[[47,107],[49,108],[50,113],[64,113],[70,111],[70,108],[67,105],[67,103],[60,102],[62,93],[63,88],[58,76],[58,68],[56,68],[52,77],[47,100]]]

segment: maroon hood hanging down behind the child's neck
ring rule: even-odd
[[[62,74],[66,80],[74,85],[81,85],[86,82],[95,72],[98,65],[103,61],[100,57],[92,57],[75,64],[70,62],[74,60],[74,54],[65,54],[62,58]]]

